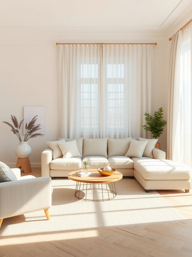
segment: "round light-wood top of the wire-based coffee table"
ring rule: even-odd
[[[82,182],[82,183],[110,183],[110,182],[121,180],[123,177],[123,174],[119,171],[115,171],[115,173],[113,173],[110,176],[102,176],[97,169],[89,169],[89,171],[93,173],[93,176],[79,177],[76,175],[77,171],[81,171],[81,169],[71,171],[68,174],[68,179],[71,179],[76,182]]]

